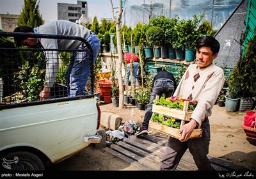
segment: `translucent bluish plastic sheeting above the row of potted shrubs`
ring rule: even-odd
[[[242,0],[126,0],[122,23],[134,28],[138,22],[148,24],[149,19],[164,15],[192,19],[205,12],[204,20],[211,22],[214,30],[220,29]]]

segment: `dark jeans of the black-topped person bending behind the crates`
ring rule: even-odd
[[[157,79],[154,82],[154,88],[150,95],[150,101],[144,116],[142,127],[148,128],[150,118],[152,117],[153,100],[156,99],[156,96],[159,95],[159,97],[161,97],[164,94],[165,97],[168,98],[172,96],[174,90],[174,82],[170,79]]]

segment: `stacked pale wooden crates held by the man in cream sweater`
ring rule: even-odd
[[[153,104],[152,116],[154,115],[154,113],[158,113],[158,114],[163,114],[164,116],[175,118],[177,120],[181,120],[180,127],[182,127],[182,125],[184,125],[185,121],[190,121],[190,117],[192,114],[192,112],[188,112],[188,104],[189,104],[188,101],[184,102],[183,111],[181,111],[179,109],[172,109],[172,108],[165,107],[162,105]],[[154,130],[162,132],[168,136],[175,137],[176,139],[179,139],[179,137],[181,136],[181,134],[179,134],[178,128],[168,127],[167,125],[163,125],[161,123],[154,122],[154,121],[152,121],[152,119],[150,120],[149,126],[150,126],[150,128],[153,128]],[[202,128],[200,128],[200,127],[201,126],[199,126],[198,128],[195,128],[193,130],[189,139],[195,139],[195,138],[202,137]]]

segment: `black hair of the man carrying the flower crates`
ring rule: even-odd
[[[205,36],[200,38],[200,40],[198,40],[196,43],[196,49],[198,50],[200,47],[210,47],[212,55],[220,51],[220,43],[213,36]]]

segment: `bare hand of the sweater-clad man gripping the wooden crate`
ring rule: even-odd
[[[184,125],[182,125],[182,127],[180,127],[179,132],[181,134],[179,140],[181,142],[186,142],[188,141],[189,137],[192,134],[192,131],[194,130],[194,128],[196,127],[197,122],[193,119],[191,119],[191,121],[189,121],[189,123],[186,123]]]

